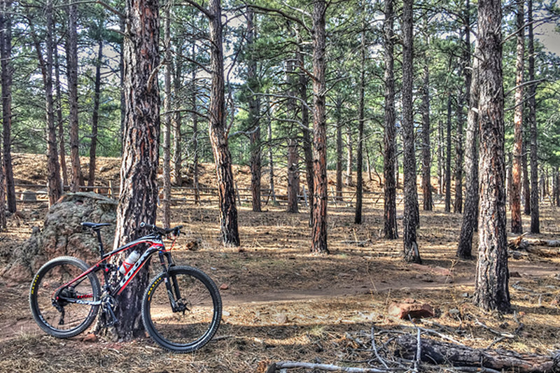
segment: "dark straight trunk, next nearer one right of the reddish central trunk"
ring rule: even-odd
[[[402,220],[402,240],[406,262],[420,263],[416,244],[416,227],[419,223],[418,194],[416,191],[416,157],[414,153],[414,114],[412,112],[412,3],[405,0],[402,6],[402,168],[405,181],[405,217]]]

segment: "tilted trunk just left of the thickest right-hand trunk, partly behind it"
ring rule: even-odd
[[[469,8],[467,0],[467,13]],[[470,44],[470,43],[469,43]],[[469,45],[470,50],[470,45]],[[463,223],[457,247],[457,256],[463,259],[472,258],[472,234],[478,223],[478,58],[477,48],[475,57],[472,58],[472,74],[465,76],[465,81],[470,79],[469,104],[467,113],[467,136],[465,143],[465,209]]]

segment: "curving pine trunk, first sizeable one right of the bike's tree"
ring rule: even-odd
[[[216,176],[218,178],[220,231],[221,239],[225,246],[239,246],[232,156],[228,146],[228,134],[225,122],[221,0],[211,0],[209,6],[211,41],[210,64],[212,71],[209,134],[214,160],[216,162]]]

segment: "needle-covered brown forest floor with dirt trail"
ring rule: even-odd
[[[16,167],[19,179],[32,174],[27,168],[19,172]],[[330,206],[330,255],[309,253],[306,211],[288,214],[267,205],[253,213],[241,204],[241,247],[223,248],[216,206],[174,206],[172,221],[186,232],[174,252],[176,262],[199,267],[224,288],[218,334],[191,354],[167,353],[149,338],[87,342],[83,336],[45,335],[29,311],[29,283],[0,277],[0,372],[265,372],[285,360],[368,367],[375,357],[363,351],[360,338],[372,328],[381,338],[387,330],[415,335],[418,326],[471,347],[544,355],[560,350],[558,248],[510,258],[514,312],[488,313],[472,305],[476,261],[455,256],[460,214],[444,213],[442,205],[421,211],[423,265],[407,265],[402,241],[381,238],[383,206],[372,202],[365,203],[361,225],[353,224],[351,206]],[[534,237],[559,239],[560,210],[543,202],[540,211],[542,234]],[[45,213],[44,204],[22,204],[8,219],[7,232],[0,233],[0,271]],[[402,232],[402,219],[399,224]],[[193,241],[197,250],[187,250]],[[406,298],[431,304],[435,317],[413,325],[388,316],[388,304]]]

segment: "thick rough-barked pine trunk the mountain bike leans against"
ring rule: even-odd
[[[158,8],[158,0],[126,1],[129,37],[125,38],[123,51],[125,128],[114,248],[137,238],[140,222],[153,224],[156,218],[160,94],[154,69],[159,64]],[[120,339],[144,335],[141,300],[148,276],[146,265],[118,298],[119,322],[115,327]]]

